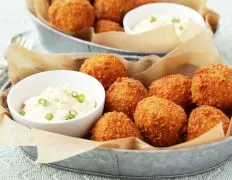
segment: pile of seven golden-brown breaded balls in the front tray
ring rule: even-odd
[[[190,79],[172,74],[146,88],[127,77],[120,57],[96,54],[80,71],[98,79],[106,90],[105,114],[91,130],[91,139],[137,137],[155,147],[192,140],[222,122],[224,133],[232,108],[232,69],[217,64],[200,68]]]

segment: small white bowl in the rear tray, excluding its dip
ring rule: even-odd
[[[125,32],[131,35],[135,34],[132,29],[137,23],[156,14],[166,14],[167,16],[172,17],[185,17],[187,19],[192,19],[201,26],[205,26],[205,21],[202,15],[187,6],[175,3],[151,3],[135,8],[125,15],[123,19]]]

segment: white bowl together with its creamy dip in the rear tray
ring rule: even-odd
[[[187,6],[174,3],[152,3],[128,12],[124,17],[123,25],[125,32],[132,35],[165,25],[173,25],[177,35],[180,36],[185,31],[189,20],[205,26],[202,15]]]

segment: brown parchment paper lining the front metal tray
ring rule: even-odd
[[[139,79],[145,85],[162,76],[181,73],[192,76],[199,67],[223,63],[212,42],[212,33],[204,30],[188,42],[182,44],[165,57],[147,56],[137,62],[130,62],[120,57],[128,69],[128,76]],[[12,83],[42,71],[55,69],[78,70],[89,53],[79,54],[40,54],[27,50],[19,45],[11,45],[6,57],[9,63],[9,76]],[[0,96],[0,144],[17,146],[37,146],[38,163],[51,163],[63,160],[95,148],[117,148],[130,150],[163,150],[197,147],[223,140],[231,135],[229,128],[224,135],[222,123],[202,136],[168,148],[155,148],[136,138],[124,138],[106,142],[68,137],[61,134],[30,129],[10,118],[6,104],[7,91]],[[230,127],[232,125],[230,124]]]

